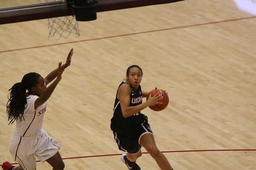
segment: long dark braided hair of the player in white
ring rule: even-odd
[[[28,73],[25,74],[20,83],[15,83],[10,91],[10,98],[8,97],[8,102],[6,104],[6,113],[8,116],[9,124],[14,123],[15,120],[22,118],[24,120],[23,114],[25,111],[26,100],[26,90],[31,91],[31,87],[36,86],[37,80],[40,77],[38,73]]]

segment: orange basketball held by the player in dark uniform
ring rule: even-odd
[[[159,102],[162,102],[162,104],[155,104],[153,106],[149,106],[149,108],[153,111],[162,111],[168,106],[169,96],[164,90],[161,89],[151,90],[149,94],[151,94],[151,97],[153,97],[157,92],[159,92],[159,94],[161,95],[161,97],[159,98]],[[148,100],[148,97],[146,98],[146,100]]]

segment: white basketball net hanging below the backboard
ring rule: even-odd
[[[40,3],[48,2],[48,0],[38,1]],[[48,39],[52,37],[54,37],[55,40],[59,40],[61,37],[68,38],[70,34],[75,34],[76,37],[80,36],[78,21],[76,21],[75,16],[48,18],[48,29]]]

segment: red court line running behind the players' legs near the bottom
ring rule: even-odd
[[[162,153],[171,153],[171,152],[222,152],[222,151],[256,151],[256,149],[208,149],[208,150],[189,150],[189,151],[162,151]],[[142,152],[143,154],[146,154],[148,152]],[[91,155],[91,156],[84,156],[84,157],[70,157],[70,158],[62,158],[64,159],[79,159],[79,158],[92,158],[92,157],[110,157],[110,156],[117,156],[121,155],[121,153],[118,154],[107,154],[107,155]],[[37,160],[36,162],[40,162]],[[17,163],[11,163],[12,165],[15,165]],[[1,166],[1,165],[0,165]]]

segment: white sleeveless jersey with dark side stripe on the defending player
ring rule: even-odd
[[[31,137],[39,134],[42,125],[43,117],[46,111],[46,103],[43,103],[41,106],[34,109],[34,102],[38,96],[29,95],[27,96],[27,104],[25,105],[25,111],[23,114],[24,119],[22,121],[17,119],[16,127],[14,129],[14,138]]]

